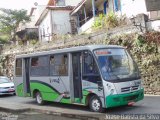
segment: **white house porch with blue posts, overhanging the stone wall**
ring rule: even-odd
[[[99,14],[121,10],[121,0],[82,0],[71,12],[77,17],[78,33],[91,32],[91,26]]]

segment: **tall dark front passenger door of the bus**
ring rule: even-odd
[[[81,53],[72,54],[72,70],[73,70],[73,89],[74,102],[81,103],[82,99],[82,81],[81,81]]]

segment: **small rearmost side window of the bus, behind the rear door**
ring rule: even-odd
[[[22,76],[22,59],[16,60],[16,76]]]

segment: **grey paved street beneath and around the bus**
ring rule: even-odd
[[[21,97],[17,97],[17,96],[1,96],[0,97],[1,101],[5,101],[8,102],[8,104],[10,103],[16,103],[16,104],[23,104],[26,106],[31,106],[32,108],[38,108],[41,107],[40,109],[47,109],[47,110],[58,110],[58,112],[71,112],[72,114],[86,114],[89,116],[99,116],[101,118],[106,118],[106,116],[110,116],[110,115],[135,115],[135,114],[139,114],[139,115],[152,115],[152,114],[160,114],[160,104],[159,104],[159,100],[160,100],[160,96],[145,96],[143,101],[140,101],[138,103],[136,103],[133,106],[122,106],[122,107],[116,107],[116,108],[112,108],[112,109],[107,109],[106,113],[100,114],[100,113],[93,113],[89,111],[89,108],[84,107],[84,106],[78,106],[78,105],[67,105],[67,104],[60,104],[60,103],[46,103],[44,106],[38,106],[35,102],[34,99],[32,98],[21,98]],[[28,114],[28,113],[27,113]],[[44,118],[44,116],[46,116],[45,114],[40,114],[40,113],[29,113],[29,114],[33,114],[30,117],[35,117],[36,116],[41,116],[40,118]],[[20,116],[24,116],[25,114],[22,114]],[[48,119],[50,119],[51,115],[47,115],[46,116]],[[54,116],[55,117],[55,116]],[[26,117],[24,117],[26,118]],[[23,119],[24,119],[23,118]],[[56,117],[55,117],[56,118]],[[59,117],[62,118],[63,117]]]

